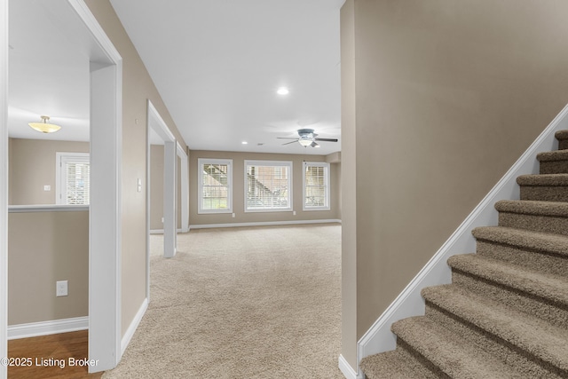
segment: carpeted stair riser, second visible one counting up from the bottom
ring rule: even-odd
[[[517,346],[474,325],[464,323],[459,317],[429,302],[426,302],[426,317],[436,320],[468,343],[473,343],[495,357],[508,362],[509,365],[517,367],[519,371],[524,371],[526,377],[563,378],[566,375],[562,370],[536,359],[527,351],[522,351]]]

